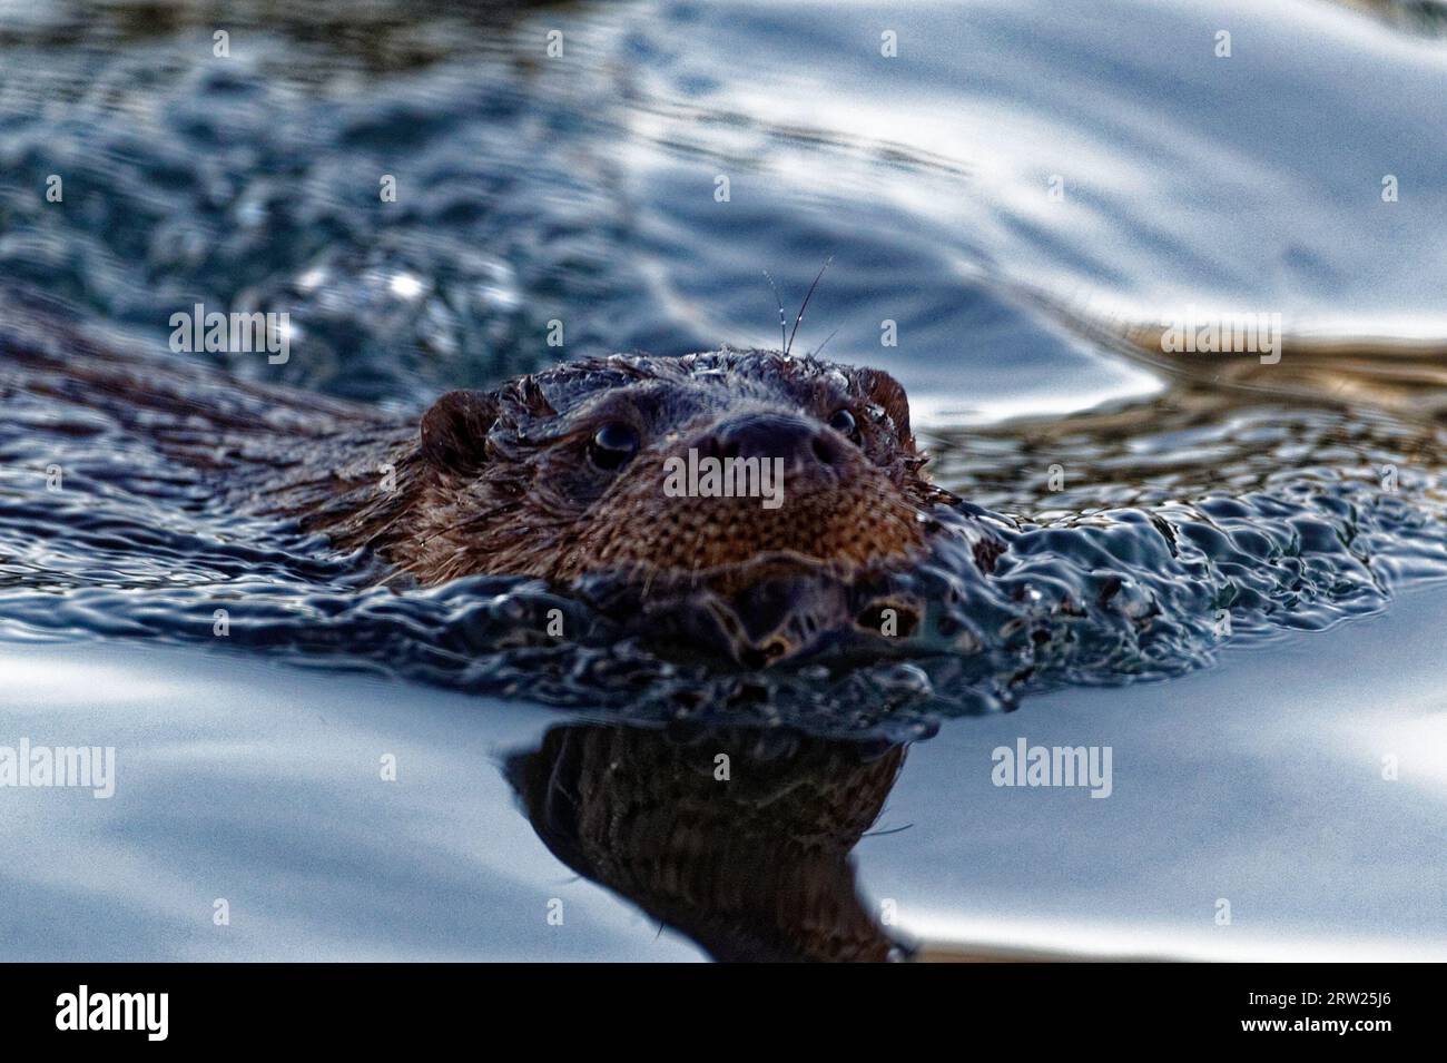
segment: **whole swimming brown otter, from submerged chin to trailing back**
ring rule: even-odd
[[[0,383],[46,418],[100,417],[119,447],[158,448],[208,515],[295,521],[369,552],[394,586],[535,577],[654,644],[745,667],[878,638],[888,606],[907,633],[920,606],[874,589],[958,503],[926,476],[904,388],[878,369],[726,347],[614,354],[408,417],[43,324],[12,336]],[[670,463],[709,458],[777,469],[777,483],[768,498],[735,490],[757,486],[748,476],[667,489]],[[983,528],[955,532],[985,561],[1000,550]]]

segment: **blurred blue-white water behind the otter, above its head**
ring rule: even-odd
[[[224,10],[6,9],[9,281],[152,337],[285,308],[281,375],[378,401],[554,360],[553,318],[572,356],[768,344],[761,270],[797,301],[829,255],[803,343],[956,417],[1153,386],[1000,282],[1444,334],[1444,51],[1338,4]]]

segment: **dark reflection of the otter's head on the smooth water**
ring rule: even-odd
[[[745,729],[566,725],[505,772],[543,843],[719,960],[903,955],[849,850],[904,746]]]

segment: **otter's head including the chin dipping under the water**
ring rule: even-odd
[[[425,581],[540,576],[650,613],[687,599],[741,659],[813,642],[854,574],[920,548],[942,495],[891,376],[768,351],[615,356],[451,392],[421,453],[407,567]]]

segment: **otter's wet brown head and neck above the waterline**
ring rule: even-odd
[[[376,550],[423,584],[478,573],[557,583],[599,571],[846,573],[907,558],[930,505],[952,499],[922,474],[894,377],[764,350],[564,363],[449,392],[405,438],[355,443],[331,479],[315,469],[268,479],[245,505]],[[690,454],[777,461],[781,505],[670,498],[669,461]],[[388,490],[383,466],[396,473]]]

